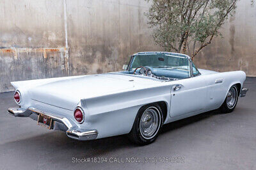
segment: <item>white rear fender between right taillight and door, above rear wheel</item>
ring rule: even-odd
[[[170,85],[139,89],[81,100],[85,122],[99,132],[99,138],[127,134],[139,109],[146,104],[163,101],[170,109]]]

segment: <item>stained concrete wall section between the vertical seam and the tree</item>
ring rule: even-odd
[[[70,74],[122,68],[128,56],[158,50],[150,38],[143,0],[67,1]]]

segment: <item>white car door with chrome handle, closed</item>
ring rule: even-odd
[[[170,116],[175,117],[205,109],[207,88],[203,77],[175,81],[171,89]]]

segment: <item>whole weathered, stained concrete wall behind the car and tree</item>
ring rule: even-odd
[[[11,81],[117,71],[154,44],[143,0],[0,0],[0,92]],[[223,36],[195,58],[200,68],[256,75],[256,10],[239,1]],[[67,33],[67,34],[66,34]]]

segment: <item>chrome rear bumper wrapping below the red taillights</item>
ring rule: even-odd
[[[38,120],[38,114],[44,114],[45,116],[51,117],[54,121],[51,127],[52,130],[64,131],[68,137],[79,141],[96,139],[98,136],[97,130],[79,128],[74,125],[74,123],[72,124],[67,118],[61,118],[60,116],[36,108],[29,107],[29,109],[24,109],[22,107],[13,107],[8,109],[8,113],[15,117],[29,117],[36,121]]]

